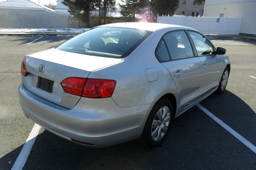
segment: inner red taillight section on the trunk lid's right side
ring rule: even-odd
[[[64,79],[60,84],[66,93],[81,96],[86,78],[69,77]]]

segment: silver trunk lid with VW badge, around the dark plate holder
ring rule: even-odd
[[[24,58],[26,70],[30,73],[22,78],[26,89],[57,105],[73,108],[81,98],[80,96],[65,93],[60,82],[68,77],[87,78],[91,71],[107,67],[122,61],[122,59],[90,56],[78,53],[70,53],[58,49],[49,49],[27,55]],[[44,70],[40,73],[40,64]],[[42,65],[41,65],[42,66]],[[38,78],[39,77],[39,78]],[[38,87],[38,81],[42,77],[53,81],[52,91],[46,91]],[[46,83],[48,83],[46,80]]]

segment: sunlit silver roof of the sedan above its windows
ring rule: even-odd
[[[193,28],[172,25],[172,24],[160,24],[160,23],[152,23],[152,22],[122,22],[122,23],[113,23],[106,24],[98,27],[122,27],[122,28],[134,28],[139,30],[147,30],[155,32],[157,30],[163,30],[165,28],[170,28],[170,30],[195,30]],[[171,29],[173,28],[173,29]]]

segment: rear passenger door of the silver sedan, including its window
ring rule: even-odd
[[[164,56],[163,53],[165,53]],[[186,109],[197,101],[201,81],[201,63],[197,57],[194,57],[185,30],[165,34],[156,50],[156,57],[172,75],[180,97],[180,107]]]

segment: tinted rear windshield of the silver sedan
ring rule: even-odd
[[[150,31],[131,28],[99,27],[68,40],[57,49],[100,57],[124,58],[150,34]]]

